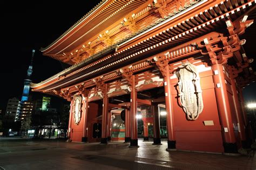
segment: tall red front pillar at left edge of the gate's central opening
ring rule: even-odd
[[[109,113],[109,98],[107,98],[107,85],[104,84],[105,94],[103,94],[103,112],[102,112],[102,138],[101,144],[107,144],[107,115]]]

